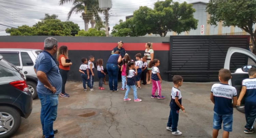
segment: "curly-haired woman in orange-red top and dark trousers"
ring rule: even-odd
[[[68,72],[70,70],[71,62],[66,63],[66,59],[68,59],[68,47],[61,46],[57,52],[57,59],[59,62],[59,73],[62,78],[62,87],[60,97],[68,98],[69,94],[65,92],[65,85],[68,79]]]

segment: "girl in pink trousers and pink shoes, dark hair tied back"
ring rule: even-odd
[[[165,99],[164,96],[161,95],[161,84],[162,79],[160,76],[159,69],[157,68],[160,65],[160,61],[158,59],[154,59],[150,63],[148,63],[148,67],[152,68],[151,80],[152,80],[152,95],[151,98],[157,99]],[[157,90],[158,96],[155,96],[155,92]]]

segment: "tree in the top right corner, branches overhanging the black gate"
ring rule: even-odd
[[[223,21],[223,26],[237,26],[250,34],[253,53],[256,53],[256,0],[213,0],[206,8],[211,15],[208,21],[212,25]]]

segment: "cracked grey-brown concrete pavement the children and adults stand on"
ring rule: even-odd
[[[66,92],[70,98],[59,97],[58,116],[54,128],[58,129],[55,138],[211,138],[213,103],[210,100],[211,86],[214,83],[183,83],[180,88],[185,113],[180,112],[178,130],[183,134],[173,136],[166,130],[170,112],[170,94],[172,82],[162,82],[162,95],[166,99],[152,99],[152,85],[142,86],[138,98],[142,102],[133,102],[133,91],[129,93],[132,101],[123,101],[125,91],[105,90],[83,91],[81,82],[67,82]],[[33,111],[13,138],[40,138],[41,104],[33,101]],[[253,134],[243,133],[245,116],[234,109],[233,132],[230,138],[255,138]],[[219,137],[222,137],[222,130]]]

